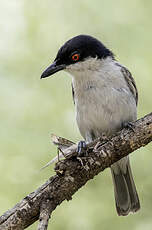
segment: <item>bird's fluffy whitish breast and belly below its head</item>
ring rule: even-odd
[[[73,73],[76,119],[87,141],[116,132],[123,122],[136,119],[135,99],[120,67],[111,59],[100,61],[99,67]]]

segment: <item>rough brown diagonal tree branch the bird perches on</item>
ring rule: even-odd
[[[152,113],[134,122],[134,131],[125,128],[110,139],[89,144],[86,157],[74,157],[74,147],[68,152],[68,159],[56,164],[56,175],[0,217],[0,230],[25,229],[38,219],[38,229],[47,229],[50,213],[62,201],[72,199],[88,180],[151,141]]]

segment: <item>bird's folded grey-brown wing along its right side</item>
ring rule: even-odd
[[[126,67],[120,65],[119,63],[116,63],[116,64],[121,68],[121,72],[123,73],[123,76],[127,82],[127,85],[129,87],[131,93],[133,94],[133,96],[135,98],[136,105],[137,105],[137,103],[138,103],[138,91],[137,91],[135,80],[133,79],[130,71]]]

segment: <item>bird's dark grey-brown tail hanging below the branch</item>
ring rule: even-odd
[[[140,209],[140,202],[132,177],[129,158],[125,157],[111,166],[116,209],[119,216]]]

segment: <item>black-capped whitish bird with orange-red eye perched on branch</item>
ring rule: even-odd
[[[72,76],[76,121],[84,138],[78,144],[79,150],[103,133],[113,135],[137,119],[136,83],[130,71],[99,39],[81,34],[65,42],[41,78],[61,70]],[[110,169],[117,214],[137,212],[140,201],[129,157],[112,164]]]

